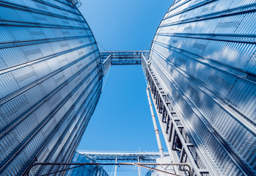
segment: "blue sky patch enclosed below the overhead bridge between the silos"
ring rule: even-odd
[[[132,74],[131,74],[132,73]],[[111,66],[79,150],[158,150],[140,65]]]

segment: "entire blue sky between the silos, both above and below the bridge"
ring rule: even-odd
[[[172,1],[84,0],[82,3],[79,10],[97,42],[109,51],[120,51],[144,50]],[[145,89],[140,65],[111,66],[78,150],[157,151]],[[163,140],[162,144],[165,146]]]

